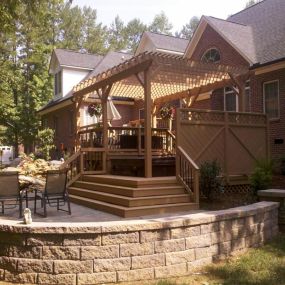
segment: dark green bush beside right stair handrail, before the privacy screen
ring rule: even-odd
[[[217,160],[205,161],[200,165],[200,191],[207,199],[213,198],[215,190],[221,190],[221,166]]]

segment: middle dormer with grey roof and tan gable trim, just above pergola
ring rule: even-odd
[[[136,55],[145,51],[183,55],[188,43],[189,41],[186,39],[144,32],[137,47]]]

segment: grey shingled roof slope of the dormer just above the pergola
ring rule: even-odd
[[[186,39],[153,32],[144,32],[144,34],[151,40],[158,51],[174,51],[183,54],[189,42]]]

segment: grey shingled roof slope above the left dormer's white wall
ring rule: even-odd
[[[103,58],[102,55],[81,53],[67,49],[55,49],[54,54],[60,65],[93,70]]]

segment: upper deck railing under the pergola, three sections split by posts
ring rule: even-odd
[[[102,148],[103,129],[96,125],[82,127],[79,131],[82,148]],[[175,154],[175,135],[165,128],[152,128],[152,151]],[[144,153],[144,128],[108,127],[108,152]]]

